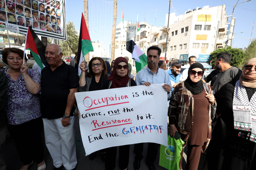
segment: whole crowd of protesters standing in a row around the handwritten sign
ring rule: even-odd
[[[42,123],[54,170],[75,169],[74,93],[159,83],[164,84],[162,87],[170,103],[168,113],[158,114],[169,116],[170,136],[178,132],[185,142],[180,170],[186,145],[186,169],[197,170],[200,155],[208,144],[204,170],[256,169],[256,144],[253,142],[256,119],[252,119],[256,117],[256,58],[240,70],[230,65],[231,55],[222,52],[215,60],[217,70],[202,80],[204,67],[196,62],[195,56],[189,57],[190,67],[181,75],[183,64],[174,61],[170,71],[166,71],[166,63],[160,61],[161,49],[152,46],[147,50],[148,66],[139,71],[134,80],[128,57],[116,58],[111,66],[99,57],[92,58],[88,65],[82,62],[79,78],[76,57],[67,65],[62,61],[61,47],[56,44],[46,47],[49,66],[41,70],[41,75],[38,70],[28,68],[27,58],[23,64],[23,52],[17,48],[2,51],[3,62],[10,68],[0,71],[0,170],[6,169],[3,147],[7,130],[23,163],[21,170],[27,170],[33,161],[38,170],[46,169],[40,135]],[[209,81],[211,84],[206,84]],[[249,109],[237,111],[234,106]],[[80,118],[79,111],[78,114]],[[216,126],[212,130],[214,122]],[[239,128],[239,125],[246,128]],[[149,170],[156,170],[158,147],[159,144],[148,143],[145,161]],[[100,152],[106,170],[114,170],[117,147]],[[133,168],[138,170],[143,159],[143,143],[135,144],[133,152]],[[120,169],[128,169],[129,154],[130,145],[119,146]],[[95,156],[93,152],[89,159]]]

